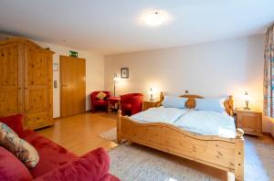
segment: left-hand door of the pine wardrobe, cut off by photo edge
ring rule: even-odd
[[[22,113],[23,79],[18,78],[23,73],[22,50],[23,45],[16,43],[0,47],[0,116]]]

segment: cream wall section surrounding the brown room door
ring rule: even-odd
[[[77,51],[78,57],[86,59],[86,110],[90,110],[90,92],[104,89],[104,57],[90,51],[76,48],[62,47],[45,42],[37,42],[43,48],[50,48],[55,52],[53,62],[59,65],[59,56],[68,56],[69,50]],[[53,117],[60,116],[60,82],[59,71],[53,71],[53,80],[58,81],[58,88],[53,89]]]

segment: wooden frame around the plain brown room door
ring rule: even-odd
[[[63,84],[63,82],[62,82],[62,58],[72,58],[72,59],[83,59],[83,58],[74,58],[74,57],[69,57],[69,56],[63,56],[63,55],[60,55],[59,56],[59,103],[60,103],[60,118],[64,118],[64,117],[69,117],[69,116],[63,116],[63,113],[62,113],[62,89],[63,89],[63,86],[62,86],[62,84]],[[84,72],[84,74],[85,74],[85,92],[86,92],[86,84],[87,84],[87,82],[86,82],[86,75],[87,75],[87,73],[86,73],[86,59],[84,59],[85,60],[85,72]],[[86,93],[85,93],[85,106],[84,106],[85,108],[86,108]],[[86,111],[86,110],[85,110]],[[77,115],[77,114],[75,114],[75,115]],[[70,116],[73,116],[73,115],[70,115]]]

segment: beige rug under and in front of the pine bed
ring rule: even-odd
[[[100,136],[116,140],[116,129]],[[274,181],[273,142],[265,144],[250,136],[245,140],[245,180]],[[111,174],[123,181],[227,180],[226,172],[139,144],[122,144],[111,150],[110,156]]]

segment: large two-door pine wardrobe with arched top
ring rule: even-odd
[[[53,54],[26,38],[0,41],[0,117],[21,113],[30,129],[54,123]]]

